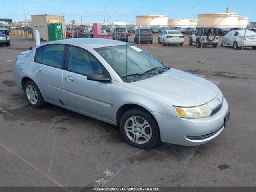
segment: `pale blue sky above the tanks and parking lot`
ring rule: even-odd
[[[74,19],[80,22],[100,22],[105,17],[105,3],[108,10],[108,21],[136,22],[136,15],[164,14],[169,18],[194,18],[201,13],[231,12],[240,16],[249,16],[249,21],[256,21],[256,0],[24,0],[26,18],[34,14],[65,15],[66,22]],[[3,0],[0,18],[13,21],[24,20],[22,0]]]

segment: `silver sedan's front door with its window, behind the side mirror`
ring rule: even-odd
[[[110,83],[87,80],[87,75],[106,69],[88,51],[70,46],[63,72],[63,87],[68,107],[110,119]]]

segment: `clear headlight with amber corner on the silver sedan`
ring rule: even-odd
[[[176,107],[173,106],[180,117],[183,118],[202,118],[208,117],[212,113],[212,109],[206,104],[196,107]]]

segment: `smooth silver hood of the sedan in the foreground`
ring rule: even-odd
[[[212,82],[175,69],[132,84],[153,92],[152,95],[160,95],[161,99],[164,98],[171,105],[186,107],[206,104],[219,93],[218,87]]]

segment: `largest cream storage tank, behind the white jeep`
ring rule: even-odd
[[[208,13],[197,15],[198,26],[232,27],[238,24],[238,13]]]

